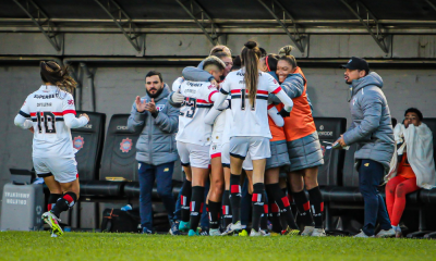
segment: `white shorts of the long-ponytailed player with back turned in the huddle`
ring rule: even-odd
[[[263,160],[271,157],[269,139],[265,137],[231,137],[230,156],[252,160]]]

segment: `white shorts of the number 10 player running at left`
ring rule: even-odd
[[[53,175],[59,183],[71,183],[78,178],[75,158],[33,158],[38,177]]]

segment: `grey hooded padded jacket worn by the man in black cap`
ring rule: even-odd
[[[379,162],[387,173],[395,140],[389,105],[382,88],[383,79],[374,72],[352,82],[352,123],[343,134],[343,139],[348,146],[358,144],[354,154],[356,162],[363,159]]]

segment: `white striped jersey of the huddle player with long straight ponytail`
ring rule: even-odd
[[[245,89],[244,73],[244,69],[231,72],[221,83],[221,92],[225,95],[231,94],[233,119],[230,137],[258,136],[271,138],[267,113],[268,94],[277,95],[281,87],[271,75],[259,72],[257,95],[254,107],[252,107],[249,92]]]

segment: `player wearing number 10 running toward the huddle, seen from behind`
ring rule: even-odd
[[[43,220],[51,227],[52,237],[63,235],[60,214],[78,199],[77,162],[74,158],[71,128],[85,126],[89,117],[75,117],[71,95],[76,83],[53,61],[40,62],[44,85],[27,96],[15,116],[15,125],[34,133],[33,162],[35,172],[50,190],[48,212]]]

